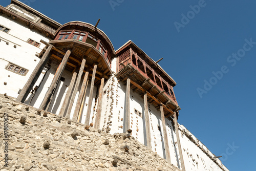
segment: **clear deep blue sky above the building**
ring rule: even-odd
[[[22,2],[61,24],[100,18],[115,49],[131,39],[154,60],[163,57],[159,65],[177,82],[179,123],[224,154],[229,170],[255,170],[256,2],[113,1]]]

